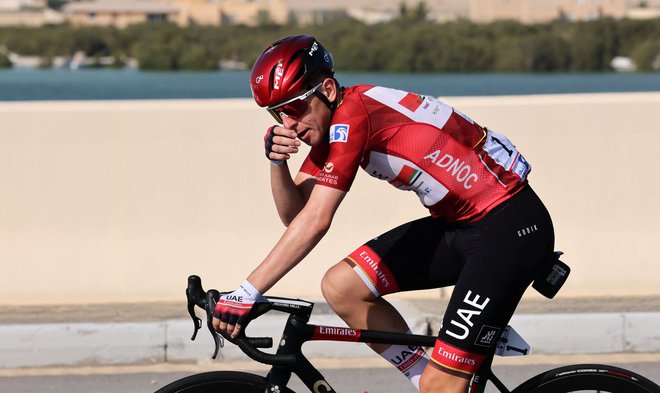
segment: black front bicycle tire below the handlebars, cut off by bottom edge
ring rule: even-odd
[[[238,371],[210,371],[178,379],[156,393],[264,393],[266,378]],[[295,393],[289,388],[283,393]]]

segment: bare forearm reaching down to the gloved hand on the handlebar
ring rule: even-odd
[[[313,209],[303,210],[247,279],[261,293],[270,289],[321,241],[331,221],[332,217],[323,217]]]

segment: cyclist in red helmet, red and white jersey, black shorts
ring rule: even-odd
[[[372,345],[422,392],[465,392],[554,247],[552,221],[528,184],[531,166],[504,136],[433,97],[381,86],[340,87],[314,37],[273,43],[257,59],[256,103],[280,125],[265,135],[277,211],[287,229],[213,324],[234,337],[262,293],[328,231],[359,167],[413,191],[430,212],[378,236],[330,268],[321,289],[351,327],[409,332],[383,296],[454,285],[429,358]],[[292,177],[287,160],[311,146]]]

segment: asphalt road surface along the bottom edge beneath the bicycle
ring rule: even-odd
[[[582,362],[580,359],[567,359]],[[605,358],[602,363],[608,363],[623,367],[646,376],[647,378],[660,382],[660,359],[652,357],[651,361],[630,362],[618,361],[617,359]],[[648,360],[648,359],[642,359]],[[367,361],[370,363],[371,361]],[[521,361],[517,362],[521,363]],[[556,363],[556,362],[555,362]],[[565,363],[568,364],[568,363]],[[322,368],[321,372],[326,380],[339,392],[351,393],[415,393],[415,389],[398,372],[389,367],[364,367],[365,364],[344,364],[344,368]],[[368,364],[367,364],[368,366]],[[517,386],[519,383],[532,376],[557,367],[557,364],[531,364],[495,366],[496,375],[508,387]],[[237,367],[241,367],[238,365]],[[62,393],[151,393],[178,378],[191,375],[195,372],[208,371],[212,368],[194,366],[150,366],[150,367],[128,367],[128,368],[103,368],[103,369],[61,369],[61,370],[17,370],[14,372],[4,371],[0,373],[0,392],[2,393],[27,393],[27,392],[62,392]],[[249,369],[261,375],[265,369]],[[306,391],[302,382],[295,376],[289,385],[298,392]],[[489,389],[487,392],[495,392]]]

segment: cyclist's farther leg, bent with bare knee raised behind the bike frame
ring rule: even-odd
[[[321,284],[323,296],[351,327],[407,332],[403,317],[382,296],[453,284],[460,267],[432,270],[432,261],[446,248],[438,220],[425,217],[403,224],[330,268]],[[437,277],[440,273],[448,277]],[[377,352],[387,347],[372,345]]]

